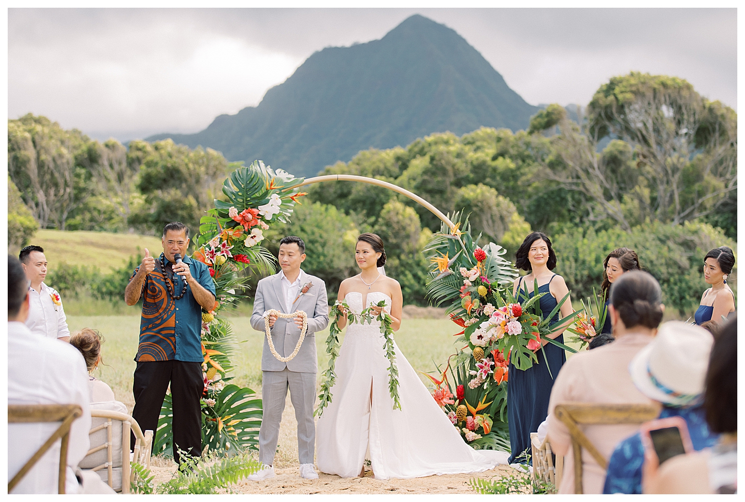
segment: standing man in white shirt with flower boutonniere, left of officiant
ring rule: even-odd
[[[62,306],[60,293],[53,287],[44,284],[47,273],[47,261],[41,246],[26,246],[18,255],[26,278],[31,281],[29,293],[29,310],[26,325],[31,333],[42,337],[70,341],[70,330]]]

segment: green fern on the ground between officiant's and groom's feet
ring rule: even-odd
[[[218,490],[230,491],[230,485],[238,483],[244,477],[259,471],[261,463],[246,454],[235,457],[219,458],[216,454],[205,458],[191,458],[186,454],[180,456],[182,463],[171,480],[162,483],[156,489],[159,494],[205,495],[218,493]]]

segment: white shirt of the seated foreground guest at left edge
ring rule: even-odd
[[[67,451],[66,493],[77,493],[74,468],[90,448],[89,384],[86,363],[69,343],[31,333],[23,323],[7,323],[8,404],[79,404]],[[59,422],[7,425],[7,479],[10,480],[60,427]],[[57,493],[60,440],[22,478],[13,493]]]

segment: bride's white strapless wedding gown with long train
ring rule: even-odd
[[[347,293],[345,299],[355,314],[363,310],[361,293]],[[367,293],[367,302],[381,299],[390,307],[385,293]],[[347,326],[336,361],[332,402],[316,426],[319,470],[358,476],[368,447],[378,480],[481,472],[506,464],[505,451],[476,451],[466,445],[395,343],[401,410],[393,410],[384,341],[374,321]]]

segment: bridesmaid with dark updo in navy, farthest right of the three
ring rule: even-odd
[[[706,253],[703,258],[703,279],[711,287],[703,292],[694,320],[701,325],[708,320],[722,320],[735,311],[735,293],[727,285],[727,276],[735,267],[735,254],[729,247],[721,246]]]

